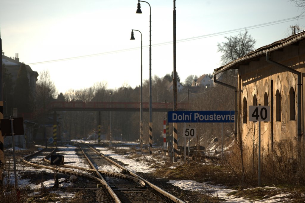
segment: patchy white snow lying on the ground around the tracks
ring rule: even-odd
[[[87,141],[87,143],[89,143]],[[92,141],[90,141],[90,143],[92,143]],[[134,143],[135,144],[135,143]],[[132,145],[131,145],[132,146]],[[71,145],[66,145],[66,147],[59,147],[58,151],[56,152],[56,154],[61,154],[64,155],[64,159],[65,159],[65,163],[68,165],[74,165],[74,166],[78,166],[78,167],[83,167],[83,168],[87,168],[90,167],[88,165],[88,163],[83,159],[80,158],[77,154],[76,154],[76,149],[77,147],[71,146]],[[128,147],[121,147],[121,148],[128,148]],[[39,148],[41,149],[41,148]],[[108,149],[106,147],[96,147],[97,150],[100,150],[100,152],[102,154],[104,154],[105,156],[108,156],[110,158],[115,158],[117,161],[120,161],[122,163],[124,163],[124,167],[127,168],[128,170],[131,170],[132,172],[136,173],[136,172],[143,172],[143,173],[152,173],[155,168],[151,168],[151,165],[147,165],[145,163],[145,161],[139,161],[140,157],[137,158],[127,158],[128,155],[119,155],[114,153],[113,150]],[[9,150],[12,150],[12,148],[10,148]],[[16,148],[17,153],[18,150],[23,150],[22,148]],[[32,158],[30,160],[30,162],[37,162],[37,161],[41,161],[43,162],[43,157],[46,154],[42,155],[42,156],[37,156],[35,158]],[[152,159],[152,158],[156,158],[156,156],[144,156],[144,159]],[[180,163],[180,162],[179,162]],[[181,162],[182,163],[182,162]],[[172,166],[172,168],[175,166]],[[50,173],[54,173],[53,171],[49,170],[49,169],[34,169],[33,167],[25,167],[24,165],[19,165],[17,164],[17,176],[19,171],[35,171],[35,172],[50,172]],[[119,170],[116,166],[114,167],[99,167],[99,170],[106,170],[106,171],[111,171],[111,172],[120,172],[121,170]],[[83,173],[87,173],[85,171],[79,171],[79,172],[83,172]],[[21,176],[18,176],[18,187],[28,187],[32,190],[34,189],[39,189],[41,187],[41,184],[32,184],[30,183],[30,179],[20,179]],[[64,178],[59,179],[59,181],[63,181]],[[6,179],[4,179],[4,181],[7,181]],[[11,172],[10,174],[10,179],[9,179],[10,183],[12,185],[14,185],[14,173]],[[218,197],[220,199],[223,199],[224,201],[221,202],[226,202],[226,203],[250,203],[253,201],[249,201],[248,199],[242,198],[242,197],[234,197],[234,196],[227,196],[228,193],[233,192],[235,190],[232,189],[228,189],[222,185],[211,185],[209,184],[209,182],[197,182],[194,180],[170,180],[168,183],[177,186],[183,190],[192,190],[192,191],[196,191],[202,194],[206,194],[209,196],[213,196],[213,197]],[[6,184],[6,182],[5,182]],[[56,193],[56,195],[58,196],[58,200],[56,202],[61,202],[60,200],[62,198],[67,198],[67,199],[72,199],[74,198],[75,193],[74,192],[63,192],[61,190],[57,190],[57,191],[52,191],[52,187],[54,185],[54,179],[49,179],[46,180],[44,182],[42,182],[42,184],[50,189],[50,192]],[[61,183],[60,187],[74,187],[73,183]],[[251,189],[251,188],[250,188]],[[266,186],[263,187],[262,190],[274,190],[276,191],[278,188],[274,187],[274,186]],[[33,192],[33,195],[39,195],[39,192]],[[273,202],[279,202],[279,200],[281,200],[282,202],[285,201],[289,201],[289,197],[287,197],[290,193],[277,193],[274,196],[269,195],[268,197],[262,199],[262,200],[256,200],[255,202],[257,203],[273,203]]]

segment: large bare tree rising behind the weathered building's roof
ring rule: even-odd
[[[224,37],[227,42],[217,43],[217,52],[221,52],[222,65],[228,64],[254,50],[256,40],[248,34],[239,32],[236,36]]]

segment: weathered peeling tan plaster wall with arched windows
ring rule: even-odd
[[[304,41],[304,40],[303,40]],[[281,51],[271,53],[271,60],[291,67],[297,71],[305,72],[305,42],[299,45],[291,45]],[[273,80],[273,141],[277,142],[283,139],[293,139],[297,137],[297,75],[288,72],[273,64],[267,63],[265,57],[260,57],[257,61],[239,67],[240,78],[240,97],[239,97],[239,115],[241,116],[240,132],[244,142],[253,146],[258,142],[258,123],[249,121],[249,112],[247,111],[247,122],[242,122],[243,98],[247,100],[247,110],[253,104],[253,96],[257,97],[257,105],[264,105],[264,94],[268,95],[268,105],[271,106],[271,80]],[[303,80],[302,80],[303,81]],[[296,120],[290,120],[289,117],[289,90],[295,91],[295,111]],[[276,121],[275,94],[276,91],[281,95],[281,121]],[[305,90],[303,90],[303,95]],[[303,100],[305,97],[303,96]],[[302,100],[302,103],[303,103]],[[304,100],[305,101],[305,100]],[[302,120],[303,119],[302,108]],[[302,121],[302,132],[304,121]],[[261,122],[261,145],[271,149],[271,121]]]

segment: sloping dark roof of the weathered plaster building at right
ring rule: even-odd
[[[256,58],[260,58],[262,56],[266,56],[266,53],[271,53],[280,49],[283,49],[286,46],[292,45],[292,44],[296,44],[302,40],[305,39],[305,31],[299,32],[297,34],[293,34],[287,38],[278,40],[276,42],[273,42],[272,44],[266,45],[266,46],[262,46],[248,54],[246,54],[245,56],[238,58],[224,66],[221,66],[219,68],[214,69],[214,73],[213,74],[219,74],[221,72],[230,70],[230,69],[234,69],[239,67],[240,65],[246,64],[250,61],[253,61]]]

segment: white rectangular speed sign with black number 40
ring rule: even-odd
[[[249,106],[249,121],[270,121],[270,107]]]

